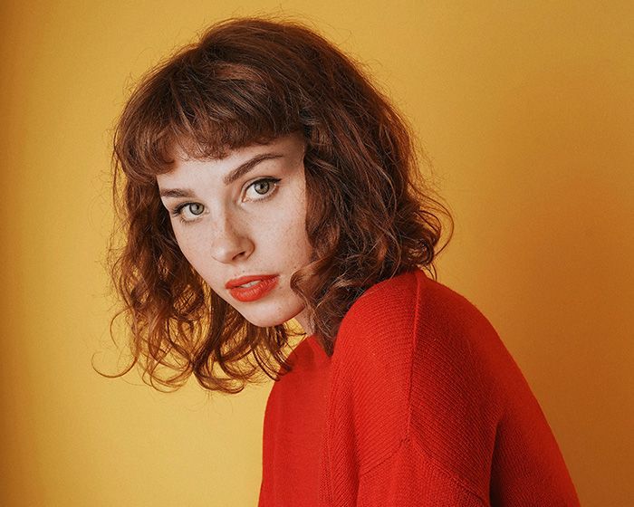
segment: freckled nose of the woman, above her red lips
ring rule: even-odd
[[[235,263],[251,255],[255,244],[248,233],[248,225],[227,215],[218,217],[211,232],[211,255],[219,263]]]

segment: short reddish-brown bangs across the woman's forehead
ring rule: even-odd
[[[264,72],[242,63],[192,65],[195,56],[184,53],[133,92],[114,142],[127,177],[153,183],[171,169],[177,151],[223,158],[301,129],[299,107]]]

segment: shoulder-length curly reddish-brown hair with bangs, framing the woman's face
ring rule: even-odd
[[[291,287],[326,353],[370,286],[417,268],[436,279],[438,216],[452,233],[453,220],[422,181],[418,167],[428,159],[398,111],[359,63],[303,24],[227,20],[149,72],[115,129],[120,226],[110,260],[123,304],[113,320],[127,317],[132,360],[114,377],[137,364],[156,388],[178,388],[193,373],[207,389],[235,393],[261,371],[277,379],[291,369],[284,349],[292,331],[251,324],[187,263],[156,176],[172,167],[176,145],[216,158],[293,132],[306,142],[314,251]]]

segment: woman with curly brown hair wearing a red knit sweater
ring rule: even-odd
[[[150,72],[114,150],[134,362],[155,386],[277,380],[262,506],[578,505],[514,359],[436,282],[448,214],[410,139],[299,24],[217,24]]]

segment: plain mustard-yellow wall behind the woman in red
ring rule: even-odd
[[[207,24],[282,13],[366,62],[434,160],[439,280],[524,370],[581,502],[634,505],[634,9],[623,2],[4,2],[0,477],[7,506],[255,505],[270,385],[113,364],[102,263],[130,85]]]

